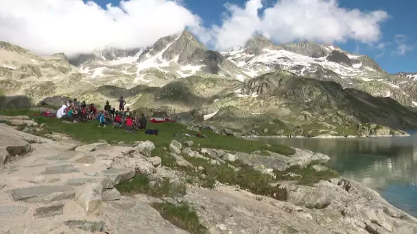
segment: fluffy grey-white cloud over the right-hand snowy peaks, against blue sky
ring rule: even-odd
[[[214,27],[212,43],[218,49],[234,47],[252,34],[263,34],[275,42],[320,40],[344,42],[377,42],[380,24],[387,12],[361,12],[339,7],[336,0],[281,0],[271,8],[263,8],[262,0],[249,0],[244,8],[226,5],[230,12],[223,24]]]

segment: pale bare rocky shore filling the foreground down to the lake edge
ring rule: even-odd
[[[23,133],[0,124],[0,233],[193,233],[171,224],[152,204],[186,202],[208,233],[417,233],[417,219],[396,209],[368,187],[336,177],[302,185],[278,181],[285,199],[248,192],[238,185],[215,181],[205,188],[187,181],[178,170],[163,165],[152,142],[112,146],[106,142],[80,145]],[[296,149],[290,157],[261,152],[237,153],[200,148],[173,140],[165,152],[177,166],[204,168],[187,158],[211,165],[241,160],[276,177],[291,166],[306,167],[329,157]],[[329,170],[315,165],[316,171]],[[117,186],[145,175],[151,184],[168,179],[184,184],[183,196],[149,194],[122,196]],[[291,174],[300,177],[302,174]],[[248,178],[249,179],[249,178]]]

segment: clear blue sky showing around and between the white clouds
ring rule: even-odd
[[[99,5],[105,6],[107,3],[118,5],[119,0],[95,0]],[[229,3],[243,5],[245,0],[229,0]],[[276,0],[264,1],[264,8],[270,7]],[[193,14],[198,14],[203,19],[204,26],[210,27],[212,24],[221,25],[222,13],[226,12],[224,0],[183,0],[185,7]],[[416,47],[417,29],[416,18],[414,16],[417,9],[417,1],[392,1],[392,0],[340,0],[339,6],[342,8],[358,8],[361,11],[384,10],[388,12],[390,18],[381,23],[382,37],[379,43],[373,46],[348,40],[344,43],[335,43],[346,51],[359,51],[361,54],[369,55],[377,60],[380,66],[389,73],[398,71],[416,72],[417,71],[417,50]],[[261,13],[262,11],[260,11]],[[396,53],[400,44],[396,43],[396,35],[405,35],[407,40],[402,40],[405,44],[405,54]],[[403,39],[405,37],[402,37]],[[397,42],[399,42],[397,40]],[[383,47],[383,48],[382,48]]]

